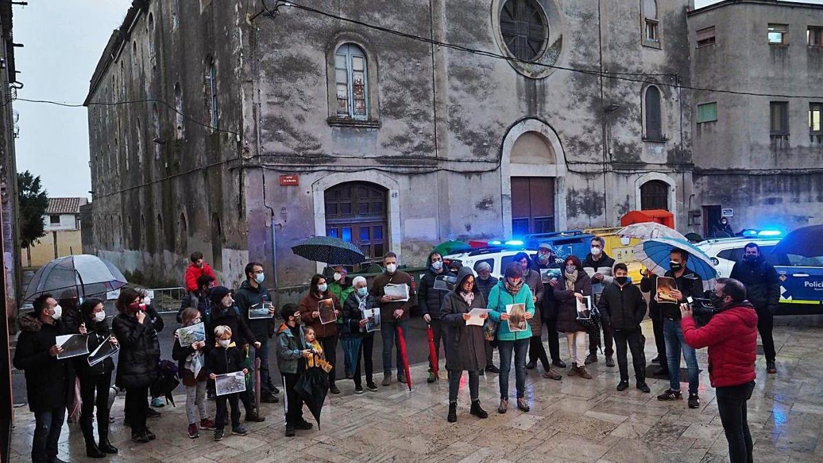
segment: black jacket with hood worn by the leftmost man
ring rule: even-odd
[[[74,396],[74,380],[70,359],[58,360],[49,355],[49,348],[63,334],[60,320],[43,323],[29,312],[20,318],[21,333],[14,351],[14,367],[26,373],[26,393],[33,413],[64,407]]]

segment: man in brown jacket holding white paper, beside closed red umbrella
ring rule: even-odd
[[[415,282],[412,275],[398,270],[398,255],[389,252],[383,258],[386,268],[383,274],[374,277],[371,283],[370,294],[380,306],[380,336],[383,338],[383,386],[392,384],[392,346],[397,347],[398,382],[406,382],[406,373],[403,372],[403,361],[398,341],[398,326],[406,336],[406,325],[409,320],[409,311],[415,303]],[[387,284],[407,285],[409,297],[407,301],[387,296]]]

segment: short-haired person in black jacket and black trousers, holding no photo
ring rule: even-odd
[[[617,391],[629,387],[629,365],[626,358],[626,344],[631,351],[631,362],[635,366],[635,382],[640,391],[649,393],[646,386],[645,339],[640,330],[640,322],[646,316],[646,300],[643,293],[629,281],[629,268],[625,264],[615,264],[612,283],[603,288],[597,308],[614,334],[617,347],[617,366],[620,367],[620,384]]]

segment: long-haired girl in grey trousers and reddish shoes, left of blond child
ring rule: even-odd
[[[183,326],[193,326],[201,322],[200,311],[188,307],[180,313]],[[171,358],[177,360],[177,372],[186,386],[186,414],[188,415],[188,437],[196,439],[198,433],[198,411],[200,412],[200,429],[214,429],[214,422],[208,418],[206,409],[206,341],[198,341],[190,346],[183,347],[174,333],[174,348]]]

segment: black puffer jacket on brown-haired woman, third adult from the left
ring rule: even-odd
[[[150,386],[157,375],[160,343],[149,316],[139,323],[135,316],[121,313],[114,317],[111,329],[120,344],[114,384],[124,388]]]

